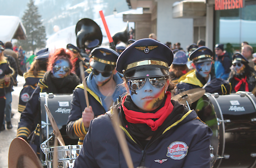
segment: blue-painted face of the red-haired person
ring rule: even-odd
[[[60,69],[59,70],[54,69],[55,65],[59,65]],[[54,66],[52,68],[52,74],[55,78],[64,78],[65,76],[67,76],[69,74],[70,70],[68,72],[66,72],[64,70],[65,67],[69,67],[69,62],[68,61],[66,61],[66,60],[57,60],[57,61],[55,61]],[[64,67],[64,69],[63,69],[63,67]]]

